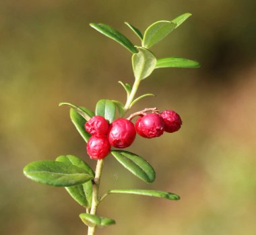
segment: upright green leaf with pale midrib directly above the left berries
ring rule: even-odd
[[[96,104],[96,115],[100,115],[110,123],[115,120],[116,106],[109,99],[100,99]]]

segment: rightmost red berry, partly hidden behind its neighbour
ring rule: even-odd
[[[181,128],[182,121],[178,113],[172,110],[165,110],[161,113],[161,117],[164,120],[166,132],[177,132]]]

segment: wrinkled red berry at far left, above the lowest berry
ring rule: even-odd
[[[108,126],[108,122],[102,116],[97,115],[86,122],[85,128],[92,136],[106,136]]]

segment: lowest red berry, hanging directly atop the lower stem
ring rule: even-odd
[[[87,152],[90,158],[99,160],[108,155],[110,152],[110,144],[106,137],[92,136],[87,143]]]

